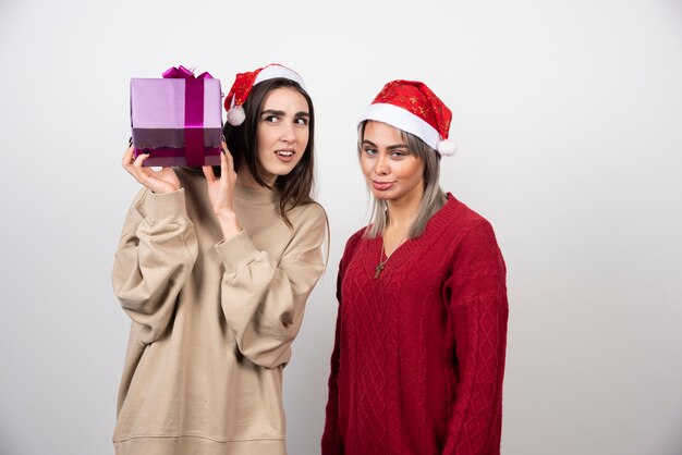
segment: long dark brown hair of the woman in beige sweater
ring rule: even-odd
[[[315,185],[315,111],[313,109],[313,100],[299,83],[277,77],[267,79],[256,84],[246,101],[244,102],[245,120],[239,126],[226,123],[223,134],[228,144],[228,149],[234,159],[234,169],[239,173],[242,167],[246,167],[254,180],[261,186],[272,188],[260,174],[258,170],[258,144],[257,130],[263,111],[263,102],[266,96],[276,88],[293,88],[299,91],[308,103],[309,122],[308,122],[308,144],[305,148],[301,161],[287,175],[278,175],[273,187],[280,192],[280,213],[284,222],[291,226],[287,218],[287,211],[299,205],[314,202],[313,189]]]

